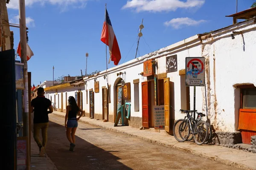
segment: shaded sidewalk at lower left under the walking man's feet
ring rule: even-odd
[[[33,135],[33,133],[31,133]],[[58,170],[51,159],[45,154],[45,157],[39,156],[39,148],[33,136],[31,137],[31,161],[30,170]]]

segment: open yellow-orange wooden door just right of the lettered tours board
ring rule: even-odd
[[[164,82],[164,116],[165,130],[170,132],[170,82],[169,77],[163,80]]]

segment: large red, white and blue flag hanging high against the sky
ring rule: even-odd
[[[121,53],[116,40],[116,35],[114,33],[114,30],[108,15],[107,8],[105,8],[105,21],[103,23],[102,35],[100,40],[104,42],[106,45],[108,45],[110,59],[111,61],[114,62],[114,65],[118,65],[121,59]],[[110,59],[108,61],[108,64],[110,63]]]

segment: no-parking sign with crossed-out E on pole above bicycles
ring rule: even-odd
[[[204,86],[204,57],[186,57],[186,86]]]

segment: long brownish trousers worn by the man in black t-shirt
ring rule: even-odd
[[[34,139],[35,139],[35,142],[38,144],[38,147],[41,147],[41,146],[43,146],[44,148],[46,147],[48,127],[49,127],[49,122],[34,123]],[[42,131],[43,144],[41,143],[39,138],[40,129]]]

